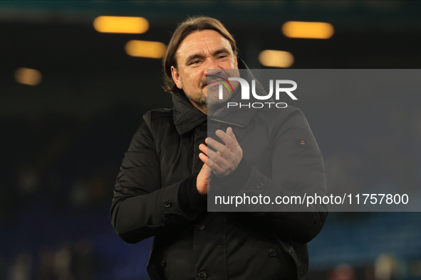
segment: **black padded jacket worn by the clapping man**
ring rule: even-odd
[[[254,109],[208,119],[182,95],[173,102],[173,109],[144,115],[125,154],[111,208],[117,235],[129,243],[155,236],[147,264],[152,280],[307,279],[306,242],[323,227],[325,209],[207,212],[196,190],[208,127],[231,126],[244,160],[230,176],[250,174],[236,192],[326,193],[321,152],[301,111]],[[297,147],[297,139],[309,140],[311,149]]]

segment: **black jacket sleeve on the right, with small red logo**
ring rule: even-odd
[[[239,196],[269,196],[271,202],[277,196],[300,197],[303,204],[251,204],[243,210],[255,212],[250,215],[259,215],[278,235],[306,243],[321,231],[328,210],[325,205],[307,207],[303,198],[305,195],[326,195],[326,175],[321,151],[306,117],[294,107],[288,110],[286,118],[269,128],[273,143],[271,171],[259,171],[252,163],[241,160],[239,170],[234,171],[237,174],[228,180],[232,182],[237,176],[235,181],[244,181],[244,174],[247,174],[245,185],[236,184],[234,193]],[[301,140],[306,147],[301,146]]]

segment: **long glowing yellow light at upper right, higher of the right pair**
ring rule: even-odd
[[[328,39],[333,36],[333,26],[324,22],[288,21],[282,32],[289,38]]]

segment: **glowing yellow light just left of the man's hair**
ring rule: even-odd
[[[125,44],[125,51],[128,55],[142,58],[162,58],[165,55],[167,46],[161,42],[151,41],[128,41]]]

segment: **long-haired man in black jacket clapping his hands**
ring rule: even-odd
[[[220,79],[247,68],[214,18],[180,24],[163,65],[174,108],[147,112],[133,136],[111,208],[117,235],[129,243],[155,236],[147,264],[152,280],[307,279],[306,242],[318,235],[327,212],[207,212],[208,185],[271,195],[326,189],[321,153],[303,114],[293,107],[224,109],[224,102],[239,99],[240,87],[232,82],[231,94],[219,99]],[[216,134],[207,137],[208,130]],[[311,149],[291,147],[291,139],[301,138]]]

